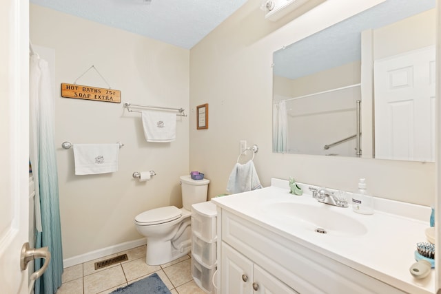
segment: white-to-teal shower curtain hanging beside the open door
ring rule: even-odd
[[[63,251],[57,158],[54,145],[54,101],[48,63],[30,56],[30,162],[35,179],[35,248],[48,246],[51,260],[43,276],[35,281],[34,293],[54,294],[61,286]],[[44,260],[35,260],[35,271]]]

